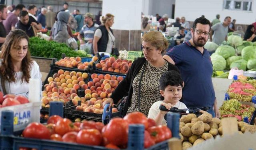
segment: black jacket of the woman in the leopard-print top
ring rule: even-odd
[[[122,97],[126,96],[128,93],[128,98],[124,106],[123,116],[126,115],[128,107],[131,105],[131,99],[132,99],[132,93],[133,93],[133,88],[132,88],[133,79],[139,73],[140,69],[142,69],[142,66],[145,62],[146,62],[146,58],[144,57],[134,60],[128,73],[126,74],[126,78],[124,78],[124,80],[120,82],[120,84],[118,84],[118,86],[116,87],[116,90],[114,90],[114,92],[110,96],[110,98],[114,100],[114,104],[117,104],[118,101]],[[175,70],[180,73],[178,67],[168,62],[168,71],[170,70]],[[156,81],[156,82],[159,82],[159,81]]]

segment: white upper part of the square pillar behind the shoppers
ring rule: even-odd
[[[113,14],[116,30],[141,29],[142,0],[103,0],[102,15]]]

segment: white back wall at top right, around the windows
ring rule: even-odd
[[[185,16],[187,21],[194,21],[204,15],[212,21],[220,14],[223,21],[226,16],[236,19],[236,24],[252,24],[256,19],[256,0],[253,0],[252,12],[224,10],[223,0],[176,0],[175,17]]]

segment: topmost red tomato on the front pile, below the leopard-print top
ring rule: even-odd
[[[145,129],[148,128],[148,119],[142,112],[131,112],[124,116],[129,124],[144,124]]]

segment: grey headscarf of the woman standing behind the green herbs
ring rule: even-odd
[[[70,14],[68,12],[59,12],[57,14],[58,21],[54,30],[54,36],[56,36],[56,34],[58,34],[58,32],[62,30],[63,25],[66,25],[68,23],[69,17]]]

